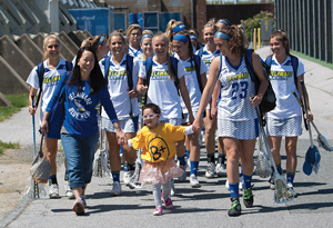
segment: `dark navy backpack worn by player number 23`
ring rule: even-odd
[[[259,80],[256,73],[253,70],[253,65],[252,65],[252,52],[253,51],[254,51],[253,49],[246,49],[245,63],[246,63],[248,71],[251,76],[251,80],[255,85],[255,92],[258,93],[259,86],[260,86],[260,80]],[[261,58],[260,58],[260,61],[262,63],[264,73],[265,73],[265,76],[269,80],[268,89],[266,89],[266,91],[265,91],[265,93],[262,98],[261,103],[259,105],[260,112],[263,115],[263,113],[269,112],[269,111],[271,111],[275,108],[276,97],[275,97],[274,90],[272,88],[272,85],[270,82],[270,78],[269,78],[269,76],[270,76],[270,66],[268,66]]]

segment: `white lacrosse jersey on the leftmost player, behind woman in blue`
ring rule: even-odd
[[[53,70],[51,70],[48,67],[48,60],[43,61],[43,66],[44,66],[44,76],[43,76],[43,86],[42,86],[43,91],[41,93],[41,98],[39,101],[39,107],[41,110],[40,111],[40,121],[43,119],[46,109],[48,107],[49,101],[51,100],[51,97],[53,95],[53,91],[56,90],[56,87],[60,80],[60,77],[64,76],[67,72],[65,61],[61,58],[60,58],[59,65]],[[37,70],[38,70],[38,66],[36,66],[31,70],[31,72],[27,79],[27,83],[29,86],[33,87],[34,89],[39,89],[39,87],[40,87]],[[36,99],[37,99],[37,97],[36,97]]]

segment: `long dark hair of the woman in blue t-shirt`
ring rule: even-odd
[[[79,60],[82,57],[83,51],[90,51],[93,54],[93,59],[94,59],[94,66],[93,69],[90,72],[90,92],[89,95],[93,95],[97,93],[101,90],[102,87],[105,87],[105,79],[102,75],[101,68],[99,66],[99,60],[95,56],[95,52],[93,50],[93,48],[91,47],[83,47],[80,48],[77,54],[77,62],[74,66],[74,70],[72,72],[72,77],[69,80],[69,85],[70,86],[74,86],[78,85],[78,90],[77,92],[81,92],[82,91],[82,81],[81,81],[81,73],[80,73],[80,66],[78,65]]]

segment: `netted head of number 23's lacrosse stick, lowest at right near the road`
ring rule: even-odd
[[[276,204],[289,202],[294,199],[295,197],[294,190],[291,189],[285,184],[285,180],[276,172],[274,172],[274,182],[275,182],[274,201]]]

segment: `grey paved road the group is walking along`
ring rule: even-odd
[[[263,48],[258,52],[265,57],[270,49]],[[315,123],[322,135],[333,145],[332,70],[307,60],[302,59],[302,61],[307,69],[305,83]],[[28,116],[27,111],[19,115]],[[31,128],[30,118],[24,125],[21,122],[24,127],[20,129]],[[10,131],[17,130],[16,126],[19,122],[18,120],[16,125],[8,125],[6,131],[0,123],[1,140],[6,141],[3,132],[10,135]],[[22,132],[24,132],[23,129]],[[19,133],[16,133],[10,140],[17,141],[18,136]],[[199,170],[202,187],[192,189],[189,180],[184,184],[176,182],[176,196],[172,198],[175,208],[163,210],[164,215],[161,217],[152,216],[154,202],[151,186],[145,186],[140,190],[130,190],[122,186],[121,196],[110,197],[112,186],[108,177],[93,178],[87,190],[85,216],[77,217],[71,211],[73,200],[64,197],[63,180],[59,178],[61,199],[29,201],[23,198],[21,206],[0,221],[0,227],[6,225],[9,227],[327,227],[333,222],[333,184],[330,171],[333,153],[320,148],[322,155],[320,172],[309,177],[302,171],[304,155],[309,146],[309,135],[304,131],[297,145],[299,166],[295,191],[299,197],[289,204],[275,204],[273,191],[269,189],[266,179],[254,176],[254,206],[246,209],[241,202],[242,216],[238,218],[230,218],[226,215],[230,195],[224,188],[225,178],[206,179],[204,177],[206,161],[202,149]],[[282,148],[282,155],[283,151]],[[285,156],[282,158],[283,167],[285,167]],[[61,177],[63,167],[59,172]]]

